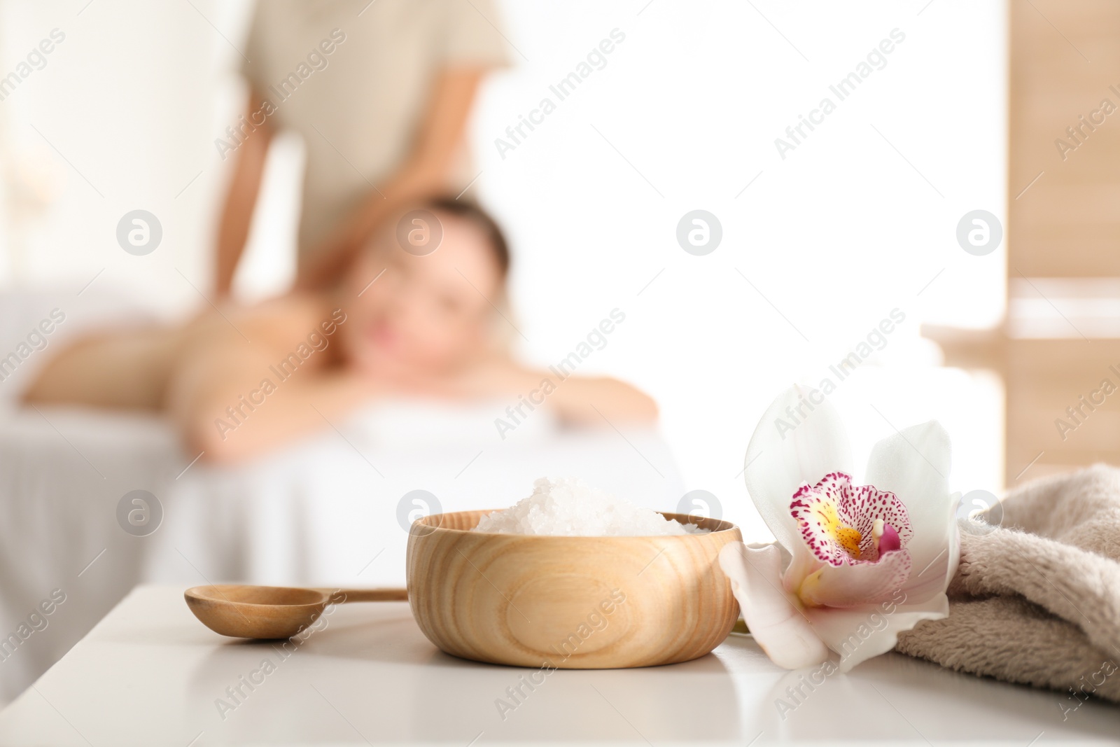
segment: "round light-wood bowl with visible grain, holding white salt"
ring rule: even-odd
[[[708,534],[541,536],[472,532],[488,511],[412,524],[409,605],[445,652],[479,662],[615,669],[687,662],[738,619],[717,555],[739,529]],[[682,514],[662,514],[680,522]]]

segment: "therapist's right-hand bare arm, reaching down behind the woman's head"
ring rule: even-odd
[[[447,189],[475,93],[485,74],[485,68],[456,67],[437,76],[408,158],[318,248],[315,263],[300,270],[298,287],[315,289],[328,284],[386,215],[413,199]]]

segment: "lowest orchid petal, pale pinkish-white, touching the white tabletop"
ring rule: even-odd
[[[898,634],[921,620],[948,617],[949,599],[941,594],[917,605],[893,605],[888,601],[849,609],[822,607],[806,609],[805,615],[816,635],[840,654],[840,671],[847,672],[860,662],[894,648]]]

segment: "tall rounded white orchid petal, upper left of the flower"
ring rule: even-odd
[[[792,551],[803,540],[790,515],[790,501],[803,482],[815,485],[830,471],[851,471],[848,433],[819,390],[793,386],[758,421],[745,464],[750,499],[777,541]]]

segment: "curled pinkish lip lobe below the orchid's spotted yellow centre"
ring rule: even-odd
[[[821,607],[877,604],[903,589],[912,568],[905,550],[888,552],[874,563],[824,566],[802,583],[800,596],[806,605]]]

